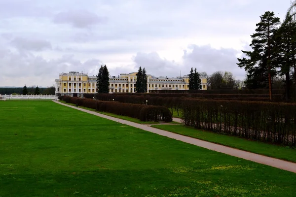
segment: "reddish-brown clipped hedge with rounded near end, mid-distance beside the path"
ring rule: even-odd
[[[77,97],[62,96],[60,98],[68,103],[96,109],[97,111],[109,112],[117,115],[137,118],[145,122],[172,122],[172,113],[167,107],[120,103],[113,101],[98,101],[93,99],[80,99]]]

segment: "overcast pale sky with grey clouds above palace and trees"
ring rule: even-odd
[[[231,71],[259,16],[284,19],[290,0],[0,0],[0,86],[51,86],[59,73],[145,67]]]

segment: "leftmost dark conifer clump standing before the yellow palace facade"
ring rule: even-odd
[[[98,93],[100,94],[107,94],[109,93],[109,71],[107,66],[101,66],[99,69],[99,73],[97,75],[97,88]]]

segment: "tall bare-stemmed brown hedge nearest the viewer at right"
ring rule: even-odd
[[[296,146],[296,104],[184,99],[185,125],[247,139]]]

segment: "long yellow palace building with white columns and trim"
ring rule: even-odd
[[[138,72],[109,76],[109,93],[135,93]],[[207,77],[201,76],[202,90],[207,90]],[[56,96],[81,97],[83,94],[98,92],[97,77],[88,76],[87,73],[71,71],[61,73],[59,79],[55,79]],[[150,90],[188,90],[189,78],[183,77],[154,77],[147,75],[147,93]]]

